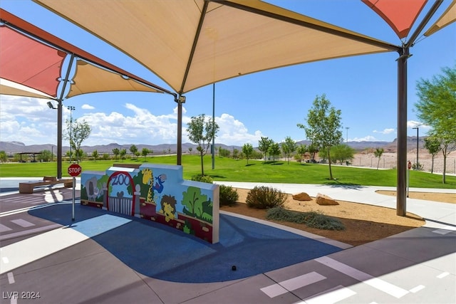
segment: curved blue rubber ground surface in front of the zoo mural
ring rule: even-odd
[[[342,250],[226,214],[220,214],[219,243],[211,244],[162,224],[79,204],[74,222],[71,204],[29,213],[85,234],[138,273],[180,283],[247,278]]]

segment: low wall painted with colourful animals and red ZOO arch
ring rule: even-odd
[[[182,166],[115,164],[105,172],[83,172],[81,205],[156,221],[209,243],[219,241],[219,187],[184,180]]]

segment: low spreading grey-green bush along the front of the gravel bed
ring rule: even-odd
[[[275,207],[266,212],[266,219],[274,219],[275,221],[289,221],[291,223],[306,224],[306,226],[324,229],[324,230],[345,230],[342,222],[339,219],[331,216],[326,216],[319,212],[298,212]]]

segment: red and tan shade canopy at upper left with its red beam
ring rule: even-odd
[[[67,97],[108,91],[143,91],[170,93],[168,90],[115,67],[46,31],[33,26],[8,11],[0,9],[0,77],[16,85],[2,82],[1,93],[37,97],[33,88],[58,98],[58,85],[65,79],[64,59],[76,56],[77,65]],[[27,87],[21,90],[21,85]],[[39,94],[38,94],[39,95]]]

